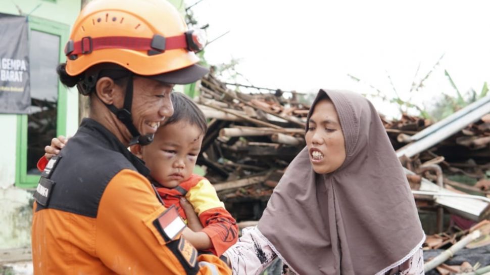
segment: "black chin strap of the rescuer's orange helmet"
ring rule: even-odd
[[[132,135],[132,139],[129,145],[139,144],[139,145],[149,145],[153,142],[154,135],[146,134],[141,135],[139,131],[133,124],[133,119],[131,118],[131,105],[133,102],[133,76],[129,76],[129,80],[126,86],[126,94],[124,95],[124,106],[121,109],[116,108],[113,104],[104,103],[109,110],[116,115],[116,117],[126,126]]]

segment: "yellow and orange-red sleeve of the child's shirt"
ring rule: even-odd
[[[202,179],[186,194],[203,224],[203,232],[211,239],[210,249],[220,256],[238,240],[238,226],[219,200],[216,190],[207,179]]]

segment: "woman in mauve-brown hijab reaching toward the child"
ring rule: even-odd
[[[234,274],[423,274],[422,231],[403,168],[372,104],[320,90],[307,147],[291,162],[259,224],[225,255]]]

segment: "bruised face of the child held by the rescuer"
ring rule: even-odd
[[[141,148],[141,159],[161,185],[174,188],[188,179],[198,159],[204,134],[187,121],[158,128],[154,141]]]

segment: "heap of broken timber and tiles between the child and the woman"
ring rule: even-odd
[[[212,74],[202,79],[198,104],[210,122],[198,165],[238,220],[260,217],[284,169],[304,148],[309,106],[300,97],[281,90],[244,94]]]

